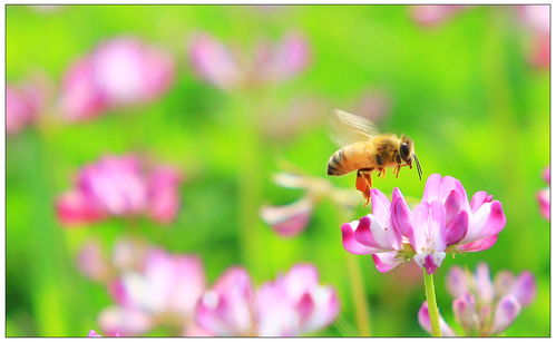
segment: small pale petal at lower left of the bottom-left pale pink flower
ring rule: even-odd
[[[153,321],[145,312],[121,306],[110,306],[100,312],[98,324],[106,335],[138,335],[153,326]]]

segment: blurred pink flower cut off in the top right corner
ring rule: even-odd
[[[531,35],[529,62],[538,68],[550,66],[550,7],[517,6],[518,16]]]

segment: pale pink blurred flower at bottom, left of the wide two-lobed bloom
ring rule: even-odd
[[[195,304],[205,289],[201,260],[152,248],[142,270],[125,272],[110,286],[116,305],[99,315],[103,331],[136,335],[166,324],[193,324]]]

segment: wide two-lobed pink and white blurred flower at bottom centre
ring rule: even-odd
[[[257,290],[245,270],[230,268],[203,295],[195,316],[217,336],[295,336],[326,326],[339,310],[335,291],[319,284],[315,267],[297,264]]]

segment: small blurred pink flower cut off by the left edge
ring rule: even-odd
[[[33,124],[45,109],[46,89],[40,80],[6,86],[6,130],[12,135]]]

